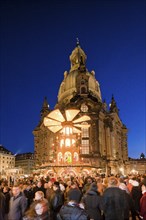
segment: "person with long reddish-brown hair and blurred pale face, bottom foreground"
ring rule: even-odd
[[[23,220],[49,220],[48,206],[45,201],[35,201],[26,211]]]

